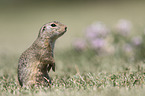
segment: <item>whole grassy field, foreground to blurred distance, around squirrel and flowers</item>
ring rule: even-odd
[[[76,38],[84,38],[85,28],[97,21],[114,29],[118,20],[127,19],[133,24],[131,35],[143,34],[144,9],[144,1],[129,0],[1,3],[0,95],[144,96],[143,59],[130,60],[122,54],[100,56],[92,51],[81,53],[72,46]],[[66,24],[68,31],[56,42],[56,72],[49,73],[52,85],[21,88],[17,80],[18,58],[37,38],[39,28],[53,20]]]

